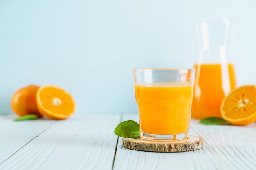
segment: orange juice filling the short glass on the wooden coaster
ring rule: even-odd
[[[189,129],[193,84],[135,84],[139,125],[143,133],[182,134]]]

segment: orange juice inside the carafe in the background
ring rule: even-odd
[[[194,68],[196,74],[191,117],[221,117],[221,102],[236,87],[234,65],[195,64]]]

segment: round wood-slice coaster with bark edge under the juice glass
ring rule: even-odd
[[[201,137],[189,136],[189,139],[180,141],[151,141],[122,138],[122,145],[131,150],[142,150],[150,152],[184,152],[198,150],[204,147]]]

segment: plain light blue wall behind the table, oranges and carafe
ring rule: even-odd
[[[191,68],[194,21],[236,18],[238,85],[256,84],[255,0],[0,0],[0,113],[20,87],[53,84],[77,113],[137,112],[132,68]]]

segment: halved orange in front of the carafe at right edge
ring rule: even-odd
[[[234,125],[256,121],[256,85],[244,85],[232,90],[222,101],[222,118]]]

